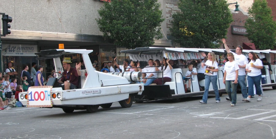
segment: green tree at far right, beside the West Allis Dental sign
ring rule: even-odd
[[[247,38],[255,44],[256,49],[273,49],[276,42],[276,22],[271,16],[271,8],[266,0],[255,0],[248,9],[249,17],[246,19],[245,28]]]

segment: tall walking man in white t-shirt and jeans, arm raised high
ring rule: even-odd
[[[227,53],[233,53],[230,51],[229,47],[226,44],[225,39],[222,39],[222,42],[224,44],[225,50],[227,51]],[[248,61],[246,56],[242,54],[242,47],[238,46],[236,48],[236,53],[234,54],[234,58],[235,58],[235,62],[238,63],[239,66],[239,77],[238,77],[238,83],[241,86],[241,90],[242,90],[242,97],[243,97],[243,101],[246,100],[246,98],[248,97],[247,95],[247,87],[245,84],[245,66],[246,66],[246,62]]]

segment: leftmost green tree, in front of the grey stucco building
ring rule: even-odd
[[[96,19],[103,36],[117,46],[134,49],[161,39],[162,11],[157,0],[112,0],[98,10]]]

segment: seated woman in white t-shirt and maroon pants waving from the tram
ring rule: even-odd
[[[171,74],[172,66],[169,64],[169,59],[163,58],[163,83],[172,81]],[[162,78],[153,81],[156,85],[162,85]]]

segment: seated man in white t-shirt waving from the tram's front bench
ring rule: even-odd
[[[146,66],[144,69],[138,68],[138,70],[140,72],[142,72],[142,73],[145,72],[147,74],[146,78],[148,78],[148,79],[147,79],[147,82],[146,82],[145,85],[152,84],[152,82],[154,80],[156,80],[156,79],[152,79],[152,78],[156,78],[157,77],[157,73],[148,73],[148,72],[156,72],[155,67],[152,67],[153,66],[153,59],[149,59],[148,60],[148,65],[149,66]],[[140,63],[137,64],[137,67],[140,67]]]

